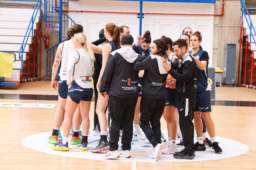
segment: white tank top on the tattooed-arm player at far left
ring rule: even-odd
[[[68,68],[68,59],[72,51],[74,51],[72,39],[63,42],[62,53],[61,53],[61,66],[60,66],[60,81],[67,80],[67,68]]]

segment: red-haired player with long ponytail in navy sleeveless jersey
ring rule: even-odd
[[[109,54],[112,51],[120,48],[120,29],[114,23],[107,23],[104,28],[104,35],[108,43],[104,44],[102,47],[102,68],[100,70],[100,76],[97,83],[97,90],[100,91],[100,81],[109,57]],[[109,143],[107,140],[107,126],[108,121],[105,115],[105,109],[108,106],[108,95],[104,98],[101,95],[98,95],[98,101],[96,106],[96,113],[100,122],[100,141],[98,146],[94,149],[91,149],[92,152],[101,152],[109,149]],[[109,115],[110,116],[110,115]]]

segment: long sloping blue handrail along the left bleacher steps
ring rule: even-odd
[[[34,1],[34,0],[30,0],[30,1]],[[31,16],[30,22],[28,24],[28,28],[26,30],[26,33],[24,35],[22,44],[20,46],[20,51],[19,51],[19,59],[21,60],[21,73],[23,72],[23,53],[24,53],[24,49],[27,45],[28,39],[30,37],[30,33],[32,36],[32,39],[34,39],[34,22],[36,20],[36,17],[38,17],[38,11],[39,11],[39,18],[41,19],[41,6],[42,6],[42,1],[41,0],[37,0],[36,4],[34,6],[34,11],[33,14]]]

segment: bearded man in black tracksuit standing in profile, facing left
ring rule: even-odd
[[[177,72],[171,69],[171,65],[164,63],[166,71],[177,80],[176,90],[179,97],[180,130],[185,149],[175,152],[174,158],[193,159],[194,156],[194,118],[193,109],[196,104],[196,62],[187,52],[187,43],[184,39],[178,39],[172,46],[174,53],[182,62],[178,65]]]

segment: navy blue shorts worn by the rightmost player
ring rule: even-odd
[[[212,111],[211,107],[211,91],[207,90],[196,94],[196,106],[193,111]]]

